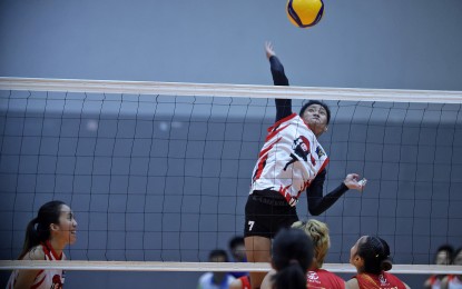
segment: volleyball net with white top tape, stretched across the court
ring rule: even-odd
[[[208,253],[243,235],[274,98],[294,111],[308,99],[330,106],[325,191],[350,172],[367,179],[315,217],[330,227],[327,269],[353,271],[336,265],[377,235],[400,272],[461,271],[431,266],[438,247],[462,245],[460,91],[19,78],[0,78],[0,268],[35,266],[6,260],[39,207],[59,199],[78,222],[67,255],[80,261],[68,269],[210,270]],[[304,195],[297,211],[311,218]]]

